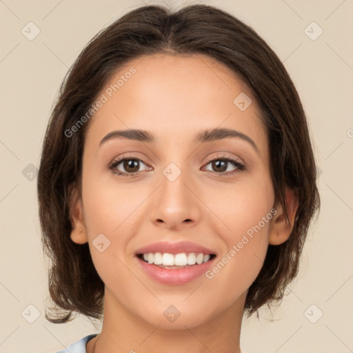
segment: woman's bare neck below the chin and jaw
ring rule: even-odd
[[[207,321],[199,325],[183,323],[175,329],[141,319],[126,310],[105,288],[101,334],[88,342],[86,352],[240,353],[244,301],[245,294]]]

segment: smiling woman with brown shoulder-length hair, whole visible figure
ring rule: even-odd
[[[68,352],[241,352],[243,315],[281,300],[319,209],[288,73],[205,5],[142,6],[90,41],[54,106],[38,193],[46,318],[103,319]]]

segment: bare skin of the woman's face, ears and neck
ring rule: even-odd
[[[230,69],[205,55],[140,57],[116,72],[106,88],[132,66],[137,72],[90,121],[81,198],[78,192],[72,196],[71,239],[89,242],[105,283],[102,331],[88,342],[87,352],[240,352],[248,288],[268,244],[283,243],[292,230],[274,203],[268,138],[256,102]],[[252,99],[243,112],[233,103],[241,92]],[[99,146],[109,132],[128,128],[148,130],[156,142],[111,139]],[[248,135],[258,152],[240,138],[193,142],[198,132],[212,128]],[[109,170],[127,153],[145,161],[136,175]],[[236,158],[245,170],[225,175],[236,170],[228,163],[221,175],[210,161],[224,157]],[[181,171],[175,181],[163,174],[170,163]],[[123,163],[118,168],[129,172]],[[288,197],[291,218],[293,202]],[[157,241],[192,241],[221,259],[272,208],[276,215],[212,279],[161,284],[141,270],[134,256]],[[104,252],[92,245],[101,233],[111,242]],[[163,315],[170,305],[181,313],[174,322]]]

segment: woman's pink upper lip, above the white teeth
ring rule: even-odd
[[[145,245],[135,252],[135,254],[148,254],[149,252],[161,252],[168,254],[181,254],[182,252],[195,252],[197,254],[216,254],[214,251],[205,248],[202,245],[191,243],[190,241],[179,241],[170,243],[168,241],[159,241],[150,245]]]

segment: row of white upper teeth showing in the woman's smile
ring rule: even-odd
[[[161,252],[143,254],[143,260],[146,262],[163,266],[186,266],[195,265],[196,263],[201,265],[201,263],[209,261],[210,258],[210,254],[195,254],[194,252],[189,254],[185,254],[185,252],[180,254],[169,254],[168,252],[164,254],[161,254]]]

